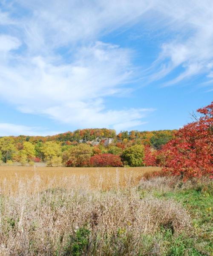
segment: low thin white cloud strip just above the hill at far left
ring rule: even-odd
[[[25,125],[14,125],[11,123],[0,123],[0,136],[47,136],[59,134],[57,131],[44,131],[40,127],[29,127]]]

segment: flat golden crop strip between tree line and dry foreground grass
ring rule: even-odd
[[[0,166],[0,192],[15,192],[24,186],[26,191],[52,187],[109,190],[118,187],[135,186],[145,173],[158,172],[159,167],[129,168],[71,168]]]

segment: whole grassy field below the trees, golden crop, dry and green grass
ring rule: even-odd
[[[0,169],[1,256],[212,256],[212,183],[159,168]]]

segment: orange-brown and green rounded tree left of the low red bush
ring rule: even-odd
[[[64,152],[66,152],[68,157],[66,166],[72,167],[89,166],[89,159],[93,154],[92,147],[83,143]]]

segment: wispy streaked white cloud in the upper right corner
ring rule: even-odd
[[[213,2],[164,1],[157,7],[167,20],[167,29],[176,32],[174,39],[162,44],[162,51],[153,69],[159,69],[154,78],[161,79],[177,67],[182,71],[164,85],[212,72],[213,61]],[[152,70],[153,72],[153,70]]]

